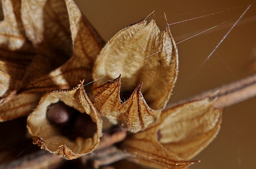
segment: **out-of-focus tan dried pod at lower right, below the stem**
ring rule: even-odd
[[[204,98],[164,110],[156,124],[127,137],[124,149],[137,163],[155,168],[175,168],[177,163],[179,168],[179,160],[173,155],[177,159],[193,158],[218,134],[221,109],[215,109],[213,103],[214,100]],[[168,160],[169,155],[172,158]]]

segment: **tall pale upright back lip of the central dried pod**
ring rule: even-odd
[[[96,59],[93,78],[104,83],[122,74],[121,93],[143,82],[149,107],[162,109],[177,78],[177,47],[168,25],[160,32],[154,20],[146,25],[145,19],[112,37]]]

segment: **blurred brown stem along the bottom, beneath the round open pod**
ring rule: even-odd
[[[124,140],[126,137],[125,131],[117,131],[112,135],[106,133],[100,140],[97,149],[92,153],[80,158],[81,163],[86,166],[87,162],[94,168],[99,168],[102,165],[108,165],[115,161],[121,160],[127,156],[126,152],[114,146]],[[11,162],[3,163],[0,169],[55,169],[61,167],[67,160],[60,158],[58,155],[53,155],[45,150],[31,153],[22,158],[17,158]]]

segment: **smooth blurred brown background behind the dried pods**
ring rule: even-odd
[[[218,26],[220,30],[213,29],[213,32],[177,44],[180,67],[171,102],[256,72],[256,67],[250,67],[256,60],[256,4],[201,66],[252,0],[75,1],[105,41],[154,10],[155,20],[162,30],[166,27],[163,12],[169,23],[220,12],[171,25],[176,42],[236,17]],[[201,163],[192,165],[191,169],[255,169],[256,98],[225,108],[219,135],[194,159]]]

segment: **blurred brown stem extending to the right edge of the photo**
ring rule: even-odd
[[[243,100],[247,100],[256,96],[256,74],[238,80],[233,83],[226,84],[224,86],[203,92],[200,95],[195,95],[185,100],[169,104],[166,109],[169,109],[178,104],[186,103],[193,100],[200,100],[209,97],[210,100],[216,98],[214,107],[221,108],[231,106],[235,103],[239,103]]]

